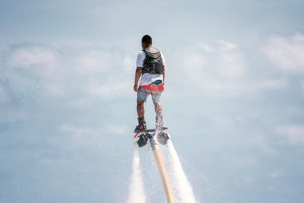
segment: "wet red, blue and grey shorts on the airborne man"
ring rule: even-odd
[[[137,99],[147,102],[147,97],[151,94],[152,101],[154,103],[157,103],[160,100],[160,96],[162,95],[164,88],[164,85],[161,81],[160,84],[158,83],[159,82],[156,81],[156,83],[154,84],[139,86],[137,92]]]

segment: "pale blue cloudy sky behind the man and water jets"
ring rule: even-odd
[[[300,0],[1,2],[0,201],[126,202],[149,34],[199,202],[304,202],[303,19]]]

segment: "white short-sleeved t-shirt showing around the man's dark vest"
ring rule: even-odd
[[[160,52],[160,55],[162,57],[163,66],[166,66],[165,58],[164,58],[162,52]],[[137,55],[136,67],[143,67],[143,62],[144,62],[145,58],[146,58],[146,52],[140,51]],[[163,81],[163,74],[153,75],[151,73],[144,73],[141,75],[141,80],[139,82],[139,85],[149,85],[157,80]]]

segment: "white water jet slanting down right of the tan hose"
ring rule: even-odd
[[[174,176],[174,186],[178,190],[175,192],[178,197],[175,197],[175,202],[196,203],[192,187],[187,180],[186,174],[182,168],[182,164],[178,158],[177,152],[174,149],[171,139],[168,140],[169,161]],[[180,201],[178,201],[180,200]]]

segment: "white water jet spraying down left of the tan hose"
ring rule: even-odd
[[[145,203],[146,195],[144,191],[143,178],[140,169],[138,147],[134,144],[132,174],[129,188],[129,198],[127,203]]]

